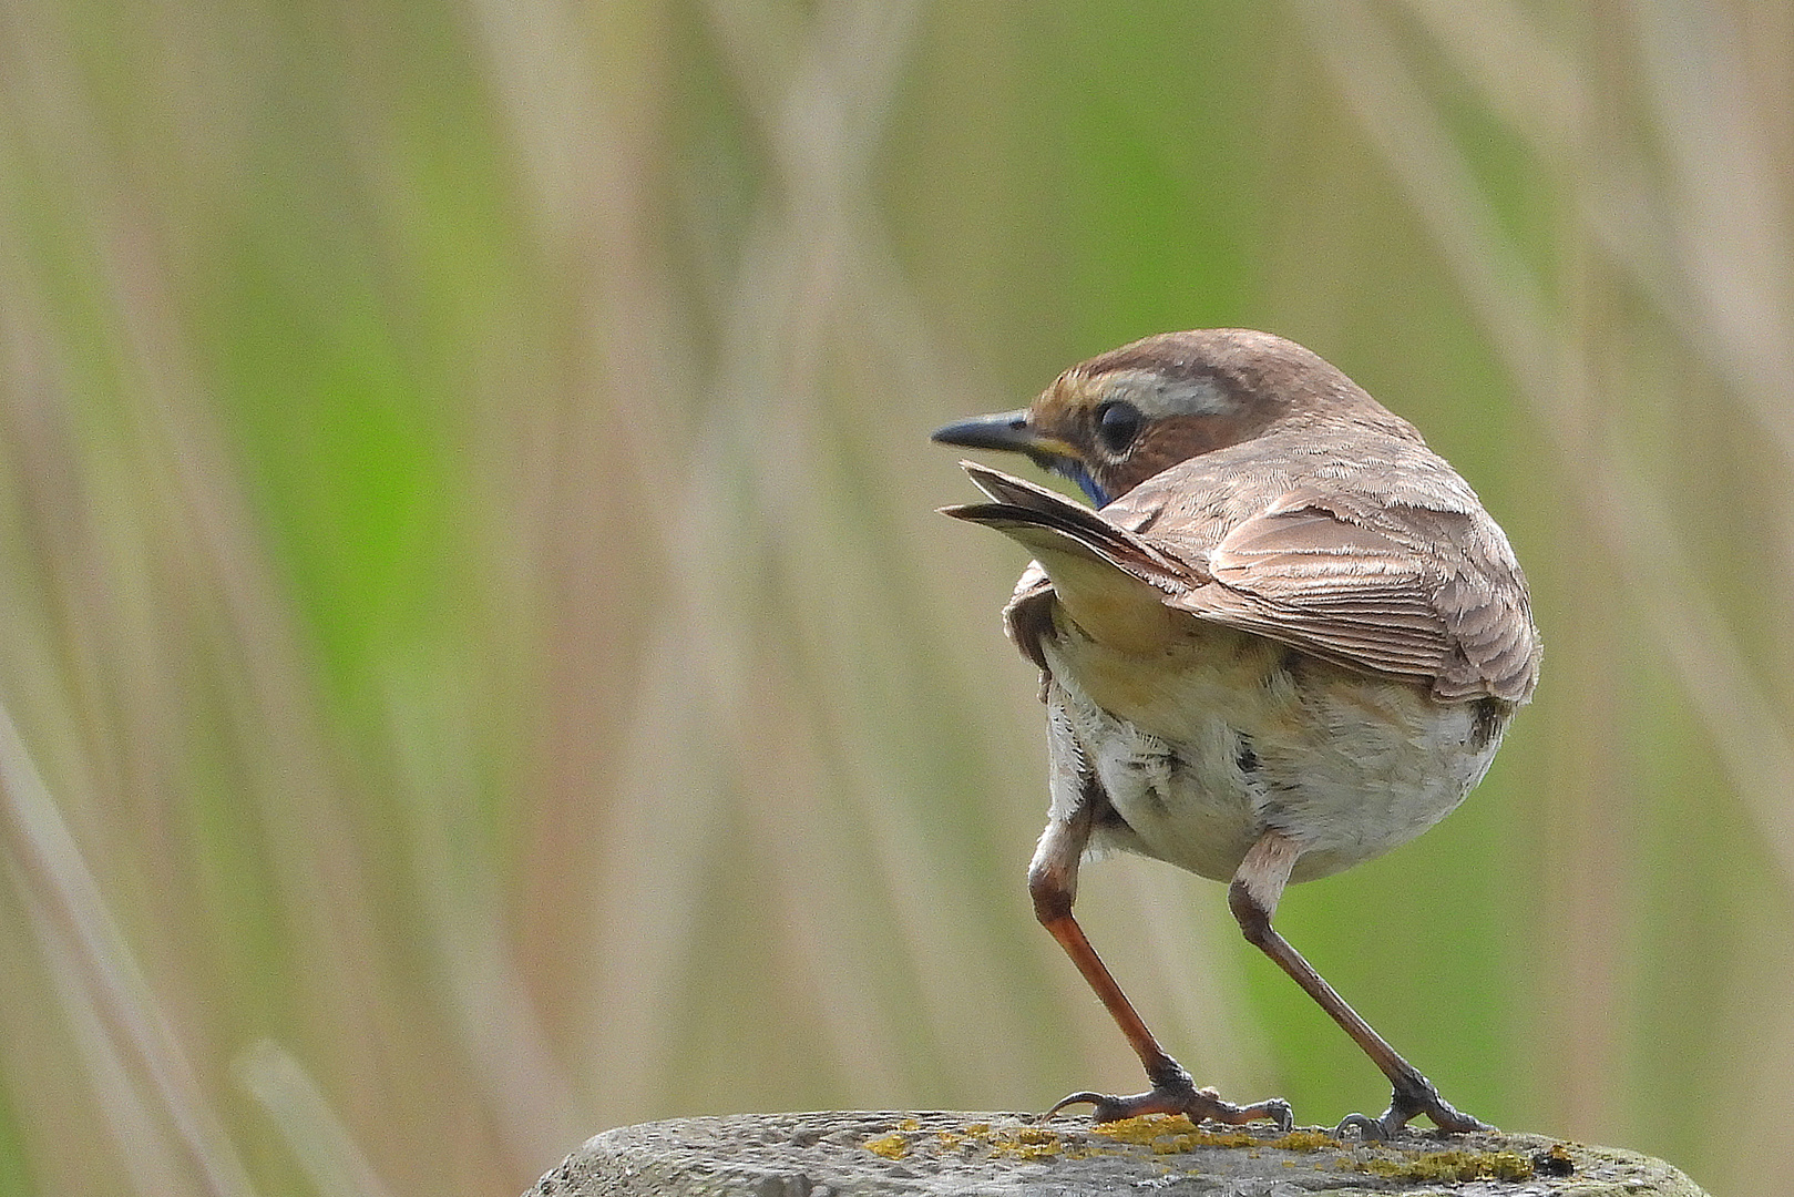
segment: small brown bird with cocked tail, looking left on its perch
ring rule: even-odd
[[[1023,452],[1100,508],[967,461],[992,501],[944,510],[1033,553],[1003,612],[1048,707],[1051,813],[1028,888],[1152,1082],[1048,1114],[1292,1125],[1281,1098],[1198,1089],[1073,919],[1084,858],[1128,851],[1229,881],[1247,940],[1389,1077],[1389,1109],[1340,1134],[1389,1138],[1415,1114],[1487,1129],[1270,924],[1290,881],[1380,856],[1462,802],[1532,695],[1527,581],[1469,485],[1331,364],[1240,328],[1125,345],[935,440]]]

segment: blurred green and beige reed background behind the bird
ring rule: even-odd
[[[1781,0],[5,0],[0,1193],[1137,1088],[927,432],[1209,325],[1412,418],[1546,637],[1279,924],[1482,1118],[1785,1192],[1790,240]],[[1383,1107],[1222,887],[1078,910],[1200,1080]]]

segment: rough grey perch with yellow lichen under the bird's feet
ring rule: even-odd
[[[1268,1123],[1200,1131],[1182,1118],[1110,1127],[1026,1114],[823,1111],[617,1127],[526,1197],[1706,1197],[1649,1156],[1537,1134],[1390,1143]]]

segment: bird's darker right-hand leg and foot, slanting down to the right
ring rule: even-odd
[[[1227,887],[1227,904],[1232,908],[1234,919],[1240,921],[1240,930],[1245,931],[1247,940],[1295,978],[1295,983],[1320,1003],[1320,1009],[1353,1037],[1353,1043],[1363,1048],[1371,1062],[1381,1068],[1383,1075],[1394,1086],[1394,1097],[1381,1118],[1347,1114],[1338,1125],[1338,1134],[1358,1131],[1367,1140],[1387,1140],[1415,1114],[1426,1114],[1441,1131],[1493,1131],[1494,1127],[1489,1123],[1451,1109],[1439,1097],[1433,1082],[1423,1077],[1414,1064],[1401,1059],[1396,1048],[1389,1046],[1389,1041],[1376,1034],[1371,1023],[1363,1021],[1338,996],[1333,985],[1328,985],[1320,973],[1315,973],[1315,967],[1302,958],[1302,953],[1290,948],[1290,940],[1283,939],[1270,926],[1270,915],[1277,910],[1283,887],[1288,883],[1290,870],[1295,867],[1299,854],[1301,847],[1290,836],[1281,831],[1267,831],[1234,872],[1232,885]]]

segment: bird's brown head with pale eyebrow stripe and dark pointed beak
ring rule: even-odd
[[[1365,407],[1367,406],[1367,407]],[[1268,332],[1161,332],[1058,375],[1028,407],[935,432],[944,445],[1023,452],[1096,506],[1179,461],[1328,409],[1390,416],[1317,354]]]

